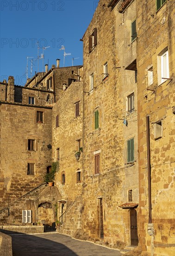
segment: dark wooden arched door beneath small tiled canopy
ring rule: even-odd
[[[137,235],[137,211],[135,209],[130,210],[130,229],[131,229],[131,245],[138,245]]]

